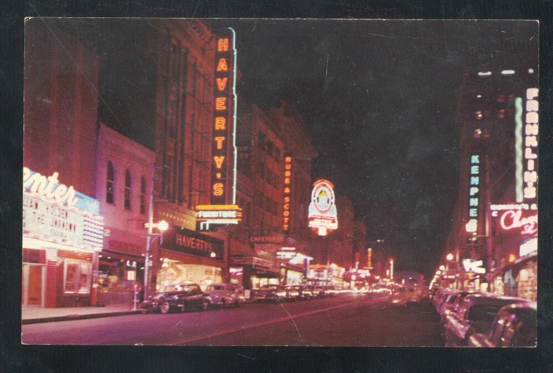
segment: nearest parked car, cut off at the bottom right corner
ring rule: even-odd
[[[475,333],[471,347],[535,347],[537,343],[536,302],[515,303],[501,308],[488,334]]]

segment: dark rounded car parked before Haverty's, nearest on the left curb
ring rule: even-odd
[[[167,314],[171,310],[185,312],[189,309],[207,309],[211,303],[209,295],[205,294],[198,284],[182,284],[166,287],[148,300],[142,302],[141,309],[145,312],[161,312]]]

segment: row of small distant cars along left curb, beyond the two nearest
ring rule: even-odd
[[[258,302],[281,302],[284,300],[307,300],[335,296],[337,290],[332,286],[312,285],[265,285],[253,291],[253,299]]]

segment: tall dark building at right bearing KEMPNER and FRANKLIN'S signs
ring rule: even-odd
[[[535,300],[536,66],[467,69],[457,122],[461,174],[446,250],[455,258],[448,268],[459,272],[458,287]]]

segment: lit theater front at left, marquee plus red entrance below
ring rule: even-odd
[[[23,170],[21,305],[72,307],[93,302],[93,271],[102,250],[99,202],[27,167]]]

